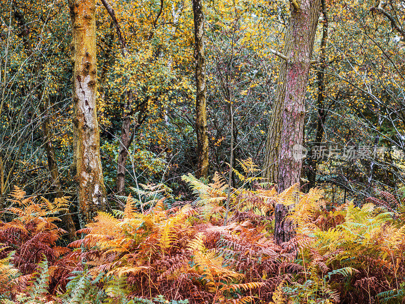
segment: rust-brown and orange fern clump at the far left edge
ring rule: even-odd
[[[8,201],[11,206],[3,211],[12,220],[0,221],[0,243],[5,246],[0,250],[0,259],[14,251],[9,260],[21,273],[15,282],[18,283],[17,291],[23,291],[35,275],[37,261],[43,260],[45,255],[47,265],[52,270],[48,278],[49,291],[54,292],[65,283],[67,273],[75,267],[71,250],[57,245],[62,234],[66,233],[55,224],[60,221],[58,213],[66,210],[66,198],[56,198],[50,202],[44,197],[27,197],[25,191],[14,187]]]

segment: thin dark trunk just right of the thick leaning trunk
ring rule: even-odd
[[[314,145],[319,146],[322,142],[323,134],[325,133],[325,121],[327,111],[325,110],[325,70],[326,70],[326,44],[328,40],[328,14],[326,12],[325,0],[321,0],[321,12],[323,16],[322,23],[322,39],[320,41],[320,66],[316,73],[318,84],[318,122],[316,127],[316,136]],[[316,171],[318,160],[309,158],[308,161],[308,189],[315,187]]]

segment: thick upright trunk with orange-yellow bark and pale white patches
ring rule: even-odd
[[[106,193],[100,159],[97,121],[96,20],[94,0],[69,0],[72,20],[74,72],[74,161],[81,223],[93,221],[106,209]]]

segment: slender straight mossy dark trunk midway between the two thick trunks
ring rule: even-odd
[[[208,175],[207,87],[204,47],[204,14],[201,0],[193,0],[195,59],[195,130],[197,135],[197,178]]]

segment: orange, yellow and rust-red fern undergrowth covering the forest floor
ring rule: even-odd
[[[228,189],[218,174],[210,184],[184,176],[196,196],[192,204],[168,206],[169,191],[144,187],[138,199],[126,198],[124,211],[100,212],[79,230],[84,237],[69,245],[72,252],[56,245],[64,232],[55,214],[66,200],[26,198],[16,188],[3,211],[10,220],[0,223],[5,294],[0,299],[123,304],[404,299],[403,201],[382,192],[361,207],[345,202],[328,209],[320,190],[302,193],[294,185],[277,194],[255,177],[251,162],[241,164],[245,172],[235,175],[245,186],[238,189]],[[297,235],[275,244],[274,205],[292,203]]]

